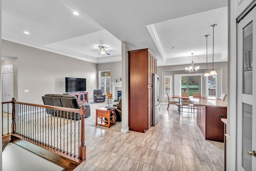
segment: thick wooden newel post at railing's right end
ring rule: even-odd
[[[81,116],[81,144],[79,147],[79,159],[84,161],[86,159],[86,145],[85,145],[85,130],[84,130],[84,116],[86,114],[86,109],[84,105],[81,105],[79,114]]]

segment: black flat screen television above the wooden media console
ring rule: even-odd
[[[86,91],[86,78],[65,78],[66,92]]]

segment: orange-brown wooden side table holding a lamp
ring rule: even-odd
[[[96,120],[95,125],[102,125],[110,128],[112,125],[115,124],[115,115],[114,115],[115,109],[107,110],[105,107],[100,107],[96,109]],[[99,122],[97,122],[97,117],[100,119]],[[108,119],[108,121],[104,121],[103,117]],[[112,118],[112,121],[111,121]]]

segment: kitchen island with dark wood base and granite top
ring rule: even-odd
[[[206,140],[224,142],[224,123],[227,118],[227,103],[218,99],[190,98],[197,106],[197,124]]]

